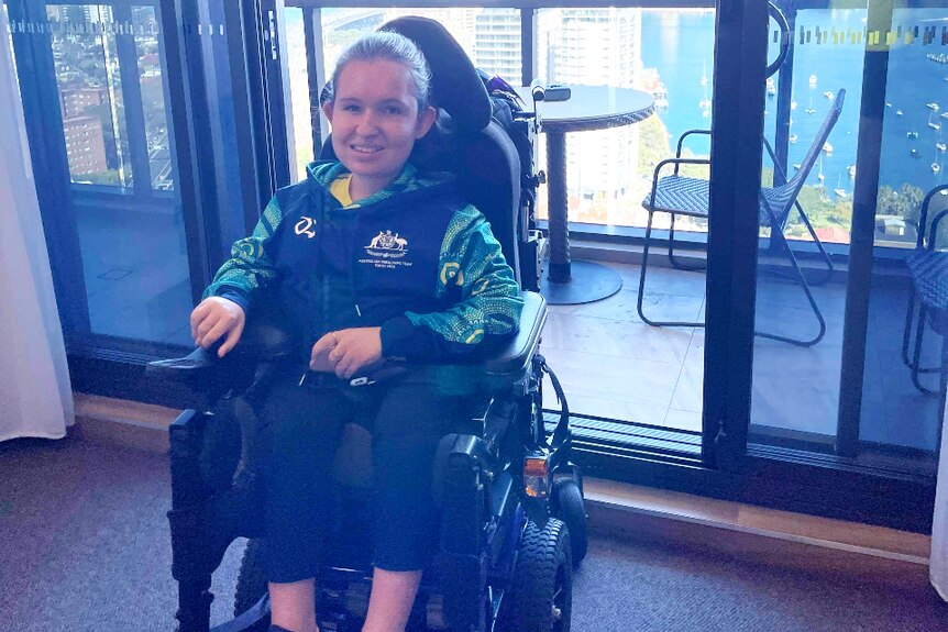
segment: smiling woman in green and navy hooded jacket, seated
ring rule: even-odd
[[[436,119],[429,91],[428,65],[407,37],[381,32],[352,45],[323,104],[338,160],[311,164],[305,181],[277,192],[191,314],[195,342],[222,341],[223,357],[257,301],[276,296],[308,341],[262,407],[273,433],[272,630],[318,629],[326,481],[350,422],[372,433],[376,480],[363,630],[405,629],[438,542],[434,451],[461,401],[432,364],[472,359],[516,332],[522,299],[489,224],[450,178],[408,163]]]

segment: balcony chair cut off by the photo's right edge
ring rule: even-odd
[[[922,215],[918,219],[918,239],[915,250],[905,258],[905,265],[912,277],[912,289],[908,297],[908,310],[905,314],[905,332],[902,336],[902,361],[912,369],[912,384],[924,393],[937,395],[944,413],[945,392],[948,389],[948,251],[936,250],[938,224],[948,208],[940,211],[928,224],[928,207],[939,193],[948,192],[948,185],[935,187],[922,202]],[[916,306],[918,307],[916,315]],[[941,362],[939,366],[922,366],[922,342],[925,334],[925,323],[932,331],[943,337]],[[913,328],[914,323],[914,328]],[[913,344],[913,332],[914,344]],[[912,357],[908,357],[908,347]],[[938,389],[932,389],[922,384],[921,374],[939,374]],[[939,413],[938,419],[941,419]]]

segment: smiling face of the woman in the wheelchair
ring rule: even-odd
[[[434,122],[433,108],[418,112],[408,68],[390,59],[346,64],[323,111],[332,124],[332,148],[352,171],[353,200],[395,180],[415,141]]]

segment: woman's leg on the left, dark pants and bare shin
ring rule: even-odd
[[[350,415],[338,391],[298,386],[293,374],[275,382],[264,404],[273,437],[264,551],[271,620],[291,632],[318,630],[313,576],[323,558],[330,463]]]

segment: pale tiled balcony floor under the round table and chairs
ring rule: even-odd
[[[542,353],[563,385],[570,410],[701,431],[704,329],[643,323],[636,312],[639,267],[606,265],[622,277],[618,293],[593,303],[549,308]],[[704,274],[650,266],[646,313],[654,319],[703,320],[704,293]],[[813,293],[827,325],[818,344],[798,347],[754,339],[751,432],[829,447],[837,432],[846,285],[814,287]],[[860,439],[932,450],[937,402],[915,390],[900,358],[905,289],[873,287],[871,296]],[[757,329],[813,336],[817,323],[801,286],[760,277]],[[930,334],[926,339],[927,357],[935,356],[939,340]],[[555,398],[548,396],[544,406],[558,408]]]

